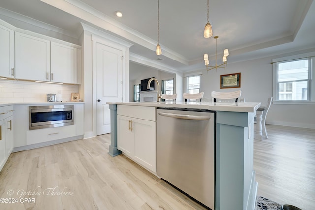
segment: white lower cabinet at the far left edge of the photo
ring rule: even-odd
[[[0,171],[13,150],[13,106],[0,107]]]

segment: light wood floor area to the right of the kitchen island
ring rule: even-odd
[[[258,195],[315,210],[315,130],[266,126],[269,139],[254,142]]]

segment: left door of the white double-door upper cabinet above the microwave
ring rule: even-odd
[[[50,80],[50,42],[15,32],[15,78]]]

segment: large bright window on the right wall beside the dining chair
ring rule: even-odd
[[[279,59],[281,61],[274,62],[275,101],[312,101],[312,59],[314,57],[294,56],[293,59],[283,58],[283,60]]]

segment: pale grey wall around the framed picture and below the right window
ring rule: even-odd
[[[281,57],[281,56],[278,56]],[[246,102],[261,102],[266,105],[273,94],[273,68],[271,60],[262,58],[239,63],[228,63],[226,70],[202,72],[202,91],[204,97],[211,98],[211,91],[242,90]],[[220,75],[241,73],[241,87],[220,89]],[[312,87],[311,91],[315,91]],[[266,119],[267,124],[304,127],[315,129],[315,105],[272,104]]]

